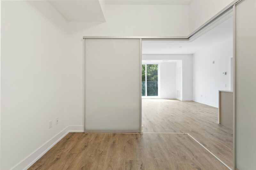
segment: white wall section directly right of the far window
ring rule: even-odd
[[[160,98],[176,99],[176,63],[159,63]]]

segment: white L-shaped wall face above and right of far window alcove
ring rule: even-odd
[[[142,54],[142,60],[182,60],[182,98],[192,100],[191,54]]]

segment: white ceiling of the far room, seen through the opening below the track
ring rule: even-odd
[[[233,17],[194,41],[142,41],[142,54],[194,54],[233,37]]]

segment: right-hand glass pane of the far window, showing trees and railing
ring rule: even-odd
[[[158,96],[157,64],[147,64],[147,96]]]

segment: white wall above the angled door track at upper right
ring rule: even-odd
[[[189,33],[232,3],[234,0],[193,0],[189,4]]]

